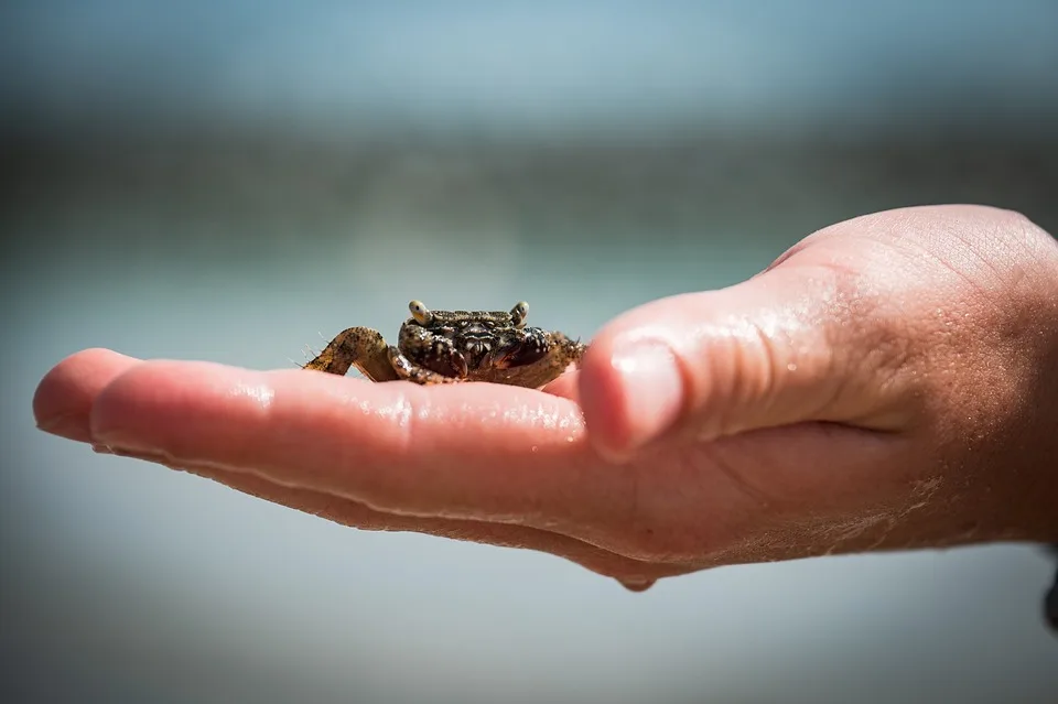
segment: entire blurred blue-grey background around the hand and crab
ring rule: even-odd
[[[828,224],[1058,231],[1058,3],[0,4],[11,702],[1054,702],[1026,546],[727,567],[339,528],[36,432],[64,356],[289,367],[407,301],[591,337]]]

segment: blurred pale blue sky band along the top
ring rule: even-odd
[[[9,0],[0,26],[0,97],[60,124],[517,136],[1058,116],[1051,0]]]

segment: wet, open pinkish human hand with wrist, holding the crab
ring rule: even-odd
[[[546,392],[77,353],[46,432],[368,530],[643,589],[723,564],[1058,542],[1058,245],[1015,213],[834,225],[607,323]]]

